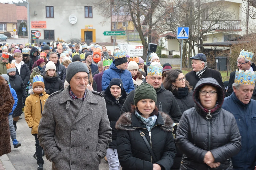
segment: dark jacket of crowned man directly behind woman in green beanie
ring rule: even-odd
[[[129,93],[129,95],[127,96],[123,104],[121,114],[131,111],[131,105],[134,105],[133,103],[134,93],[135,93],[135,90],[131,91],[131,93]],[[162,84],[160,89],[156,91],[156,95],[157,95],[156,106],[158,110],[160,112],[165,112],[167,115],[170,115],[174,123],[178,123],[182,114],[181,114],[179,105],[175,97],[173,96],[173,93],[166,90],[164,88],[164,85]]]

